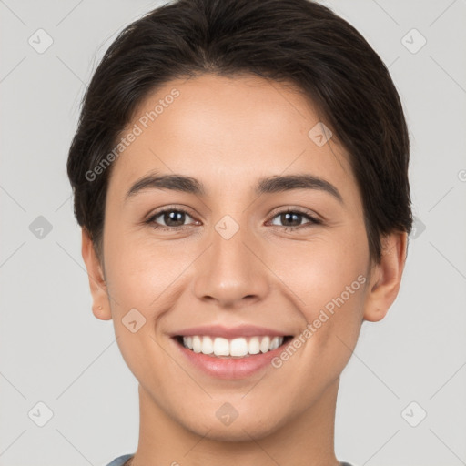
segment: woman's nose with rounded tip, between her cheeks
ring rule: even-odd
[[[245,229],[239,228],[229,239],[214,230],[211,237],[210,247],[197,261],[194,291],[198,299],[229,309],[264,299],[269,289],[268,269],[257,248],[249,244]]]

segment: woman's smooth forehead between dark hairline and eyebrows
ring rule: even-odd
[[[196,177],[207,187],[309,172],[351,189],[348,157],[336,138],[316,144],[321,123],[319,111],[291,85],[258,76],[172,80],[141,102],[120,135],[127,141],[109,191],[121,193],[154,170]]]

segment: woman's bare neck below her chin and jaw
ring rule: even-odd
[[[131,466],[338,466],[333,446],[338,387],[335,380],[308,410],[268,434],[243,430],[240,441],[224,441],[209,435],[209,429],[200,435],[188,430],[139,385],[139,442]]]

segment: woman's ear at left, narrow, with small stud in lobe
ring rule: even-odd
[[[93,299],[92,312],[97,319],[112,319],[110,302],[106,290],[106,279],[96,255],[94,243],[86,228],[82,228],[81,253],[86,264],[89,287]]]

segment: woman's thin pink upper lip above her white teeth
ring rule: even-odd
[[[238,325],[236,327],[225,327],[222,325],[201,325],[198,327],[190,327],[172,332],[172,337],[192,337],[194,335],[206,335],[210,337],[223,337],[226,339],[240,337],[286,337],[289,333],[283,331],[268,329],[266,327],[258,327],[256,325]]]

